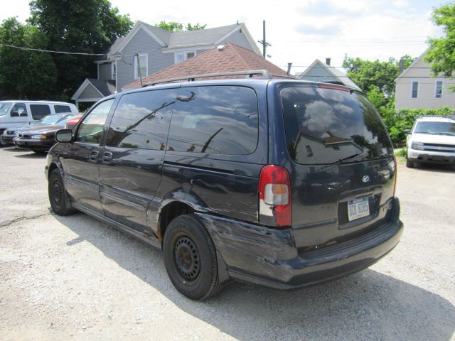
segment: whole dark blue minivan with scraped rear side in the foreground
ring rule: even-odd
[[[261,73],[102,99],[55,136],[53,212],[80,210],[161,248],[193,299],[229,279],[300,288],[378,261],[403,224],[375,107],[348,87]]]

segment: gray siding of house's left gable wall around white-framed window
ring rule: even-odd
[[[173,65],[173,53],[161,53],[161,45],[144,30],[139,30],[122,50],[122,59],[117,60],[117,91],[134,82],[134,58],[136,53],[148,55],[148,73],[163,70]],[[147,75],[144,75],[147,76]]]

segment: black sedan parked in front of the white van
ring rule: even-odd
[[[55,141],[55,133],[65,128],[66,121],[70,119],[80,119],[82,114],[65,114],[65,119],[58,121],[58,124],[45,126],[29,126],[29,129],[21,129],[13,139],[13,143],[18,148],[28,149],[35,153],[44,153],[52,147]]]

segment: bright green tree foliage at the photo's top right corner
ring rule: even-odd
[[[446,4],[434,9],[433,22],[442,26],[444,38],[430,38],[429,49],[424,60],[432,63],[433,75],[443,73],[445,77],[453,77],[455,70],[455,3]]]

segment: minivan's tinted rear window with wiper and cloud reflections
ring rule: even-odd
[[[363,94],[294,86],[284,87],[281,97],[287,149],[296,163],[348,163],[393,155],[387,130]]]

